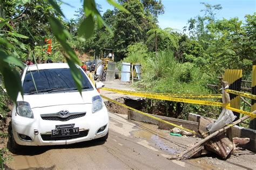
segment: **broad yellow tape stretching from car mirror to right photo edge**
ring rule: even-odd
[[[256,118],[256,114],[253,114],[252,112],[231,108],[229,105],[223,104],[220,102],[194,100],[194,99],[188,99],[188,98],[177,98],[177,97],[169,97],[169,96],[161,96],[161,95],[158,96],[156,94],[150,94],[150,93],[148,94],[145,92],[118,90],[118,89],[111,89],[111,88],[103,88],[103,90],[113,91],[113,92],[125,94],[125,95],[153,98],[153,99],[158,99],[158,100],[166,100],[166,101],[181,102],[181,103],[191,103],[191,104],[201,104],[201,105],[212,105],[215,107],[224,107],[226,109],[230,109],[232,111],[239,112],[240,114],[244,114],[244,115],[248,115],[248,116]]]

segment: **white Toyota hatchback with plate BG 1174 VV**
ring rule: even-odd
[[[67,63],[28,66],[21,75],[24,95],[12,110],[14,147],[19,145],[66,145],[106,140],[109,115],[97,89],[82,73],[82,96]]]

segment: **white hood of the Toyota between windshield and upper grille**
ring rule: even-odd
[[[78,91],[65,93],[33,94],[18,97],[17,101],[29,102],[31,108],[50,107],[53,105],[70,105],[70,104],[90,104],[92,97],[99,95],[97,91],[82,91],[82,96]]]

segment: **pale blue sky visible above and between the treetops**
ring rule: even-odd
[[[66,18],[75,18],[73,16],[75,11],[82,7],[80,0],[64,0],[63,2],[73,6],[73,8],[65,4],[61,6]],[[223,9],[217,12],[218,19],[238,17],[240,20],[245,20],[246,14],[252,15],[256,11],[256,0],[162,0],[165,13],[158,17],[158,25],[161,29],[171,27],[183,30],[188,19],[204,14],[204,12],[200,12],[201,9],[204,9],[204,5],[200,2],[211,5],[221,4]],[[109,5],[106,0],[96,0],[96,3],[102,5],[103,12],[113,9],[113,6]]]

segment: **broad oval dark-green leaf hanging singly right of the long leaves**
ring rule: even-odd
[[[92,15],[86,17],[78,29],[78,36],[84,36],[86,39],[90,38],[94,31],[94,21]]]

